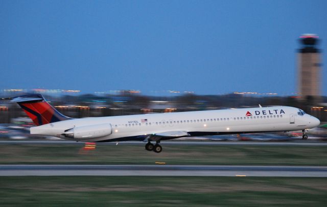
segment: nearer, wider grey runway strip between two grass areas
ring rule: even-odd
[[[274,176],[327,177],[327,166],[0,165],[0,176]]]

